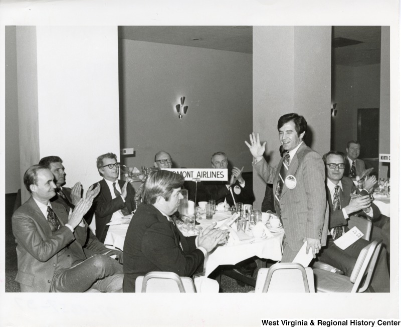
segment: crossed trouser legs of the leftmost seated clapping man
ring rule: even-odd
[[[51,292],[122,291],[122,265],[108,255],[96,254],[67,269],[55,272]]]

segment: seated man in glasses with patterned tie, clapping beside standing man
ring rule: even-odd
[[[347,220],[350,215],[358,213],[369,219],[375,219],[380,215],[380,211],[371,203],[366,190],[359,191],[351,178],[344,176],[345,160],[344,153],[338,151],[330,151],[323,155],[326,165],[326,196],[330,209],[330,236],[327,247],[323,248],[319,255],[319,260],[335,266],[350,276],[361,249],[368,245],[369,241],[359,238],[342,250],[334,244],[334,240],[349,230]],[[386,250],[383,247],[373,273],[371,286],[376,292],[388,292],[389,282]]]

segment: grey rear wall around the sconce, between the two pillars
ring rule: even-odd
[[[187,114],[175,104],[185,96]],[[152,166],[169,152],[174,166],[210,167],[225,151],[251,171],[244,144],[252,130],[252,54],[120,40],[121,147],[134,147],[127,166]]]

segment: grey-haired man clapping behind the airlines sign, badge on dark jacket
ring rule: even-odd
[[[215,152],[211,157],[212,167],[217,169],[227,169],[228,158],[224,152]],[[244,167],[243,167],[244,168]],[[216,200],[216,204],[225,202],[230,206],[237,202],[252,204],[254,201],[251,185],[245,183],[242,176],[242,169],[233,167],[229,175],[229,181],[208,181],[203,183],[204,189],[208,194],[208,200]]]

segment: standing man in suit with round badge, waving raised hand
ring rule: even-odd
[[[282,262],[291,262],[303,243],[313,256],[326,243],[328,210],[324,188],[324,164],[320,155],[306,146],[302,138],[307,129],[303,116],[288,113],[279,118],[280,142],[286,151],[277,169],[263,157],[266,142],[259,133],[245,141],[253,157],[256,171],[273,184],[276,213],[285,230]]]

